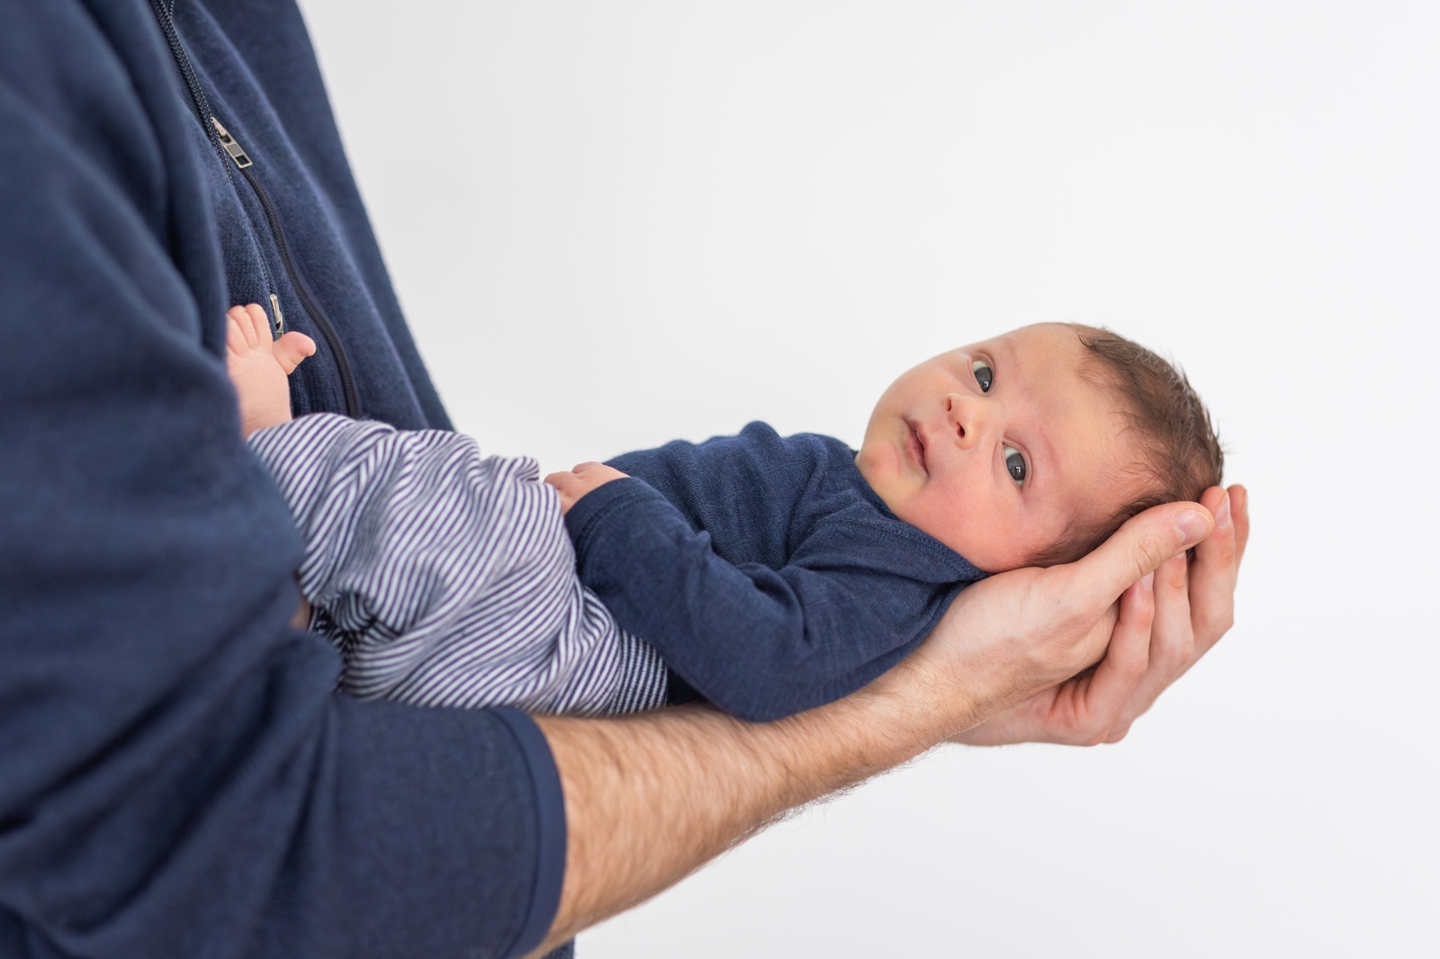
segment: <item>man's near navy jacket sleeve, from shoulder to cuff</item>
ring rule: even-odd
[[[117,52],[148,14],[0,0],[0,953],[521,953],[564,860],[549,749],[338,695],[287,628],[300,537]]]

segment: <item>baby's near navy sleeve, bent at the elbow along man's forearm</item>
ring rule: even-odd
[[[750,721],[858,690],[929,632],[953,593],[937,586],[916,602],[913,585],[877,576],[845,549],[780,569],[730,563],[708,531],[636,478],[586,494],[566,526],[582,582],[616,621],[701,695]]]

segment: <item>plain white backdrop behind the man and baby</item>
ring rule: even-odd
[[[304,7],[482,446],[855,444],[907,366],[1077,320],[1178,359],[1251,490],[1238,625],[1126,742],[933,755],[582,959],[1440,955],[1440,6]]]

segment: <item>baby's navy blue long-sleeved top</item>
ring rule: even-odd
[[[899,520],[829,436],[672,442],[566,514],[580,580],[706,698],[746,720],[876,678],[984,573]]]

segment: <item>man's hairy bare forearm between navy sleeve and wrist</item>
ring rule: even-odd
[[[978,688],[927,703],[939,688],[917,681],[922,668],[904,662],[851,697],[775,723],[710,707],[537,717],[569,825],[564,890],[541,952],[660,893],[788,809],[913,759],[979,721],[988,700],[998,708]]]

